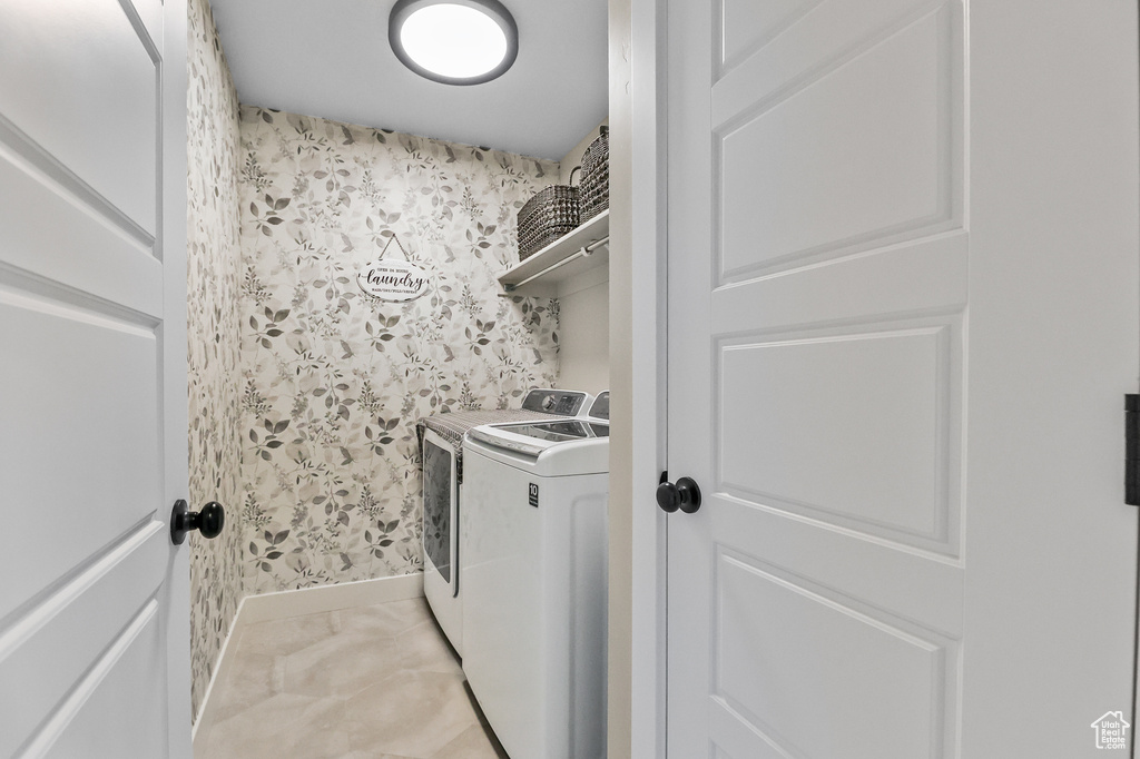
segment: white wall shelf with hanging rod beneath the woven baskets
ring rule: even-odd
[[[554,295],[571,277],[610,262],[610,211],[563,235],[526,261],[499,275],[508,295]]]

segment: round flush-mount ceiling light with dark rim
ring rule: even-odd
[[[498,0],[398,0],[388,41],[405,66],[445,84],[489,82],[519,55],[519,27]]]

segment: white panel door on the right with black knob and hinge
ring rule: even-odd
[[[1105,756],[1135,2],[668,0],[668,458],[703,490],[668,520],[668,756]]]

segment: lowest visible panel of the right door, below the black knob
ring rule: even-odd
[[[895,729],[888,740],[897,744],[888,748],[879,743],[885,756],[954,756],[956,639],[833,589],[772,571],[766,562],[723,544],[715,548],[715,555],[718,591],[712,612],[712,702],[723,701],[752,732],[792,757],[840,756],[869,728],[891,724]],[[725,596],[732,596],[732,603],[725,603]],[[733,618],[742,613],[755,619],[733,629]],[[813,621],[819,617],[826,617],[830,623]],[[757,637],[756,629],[768,632]],[[727,648],[747,650],[750,659],[736,655],[735,664],[725,667],[718,654]],[[819,667],[789,680],[790,672],[781,670],[789,666],[782,655],[791,648],[803,650]],[[882,671],[910,682],[911,687],[901,688],[895,696],[880,692],[878,699],[862,697],[864,685]],[[926,699],[917,697],[919,693]],[[710,710],[715,709],[710,704]],[[787,713],[765,718],[759,709]],[[819,729],[824,715],[830,731]],[[774,728],[776,720],[799,721],[798,735],[788,728],[781,734]]]

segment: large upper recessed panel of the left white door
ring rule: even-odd
[[[142,229],[157,229],[162,67],[116,0],[0,6],[3,115]],[[129,7],[129,6],[128,6]]]

